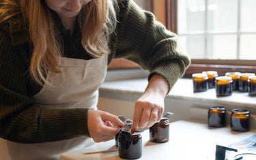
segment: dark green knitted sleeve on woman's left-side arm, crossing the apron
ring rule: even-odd
[[[8,29],[0,25],[0,137],[38,143],[89,136],[87,110],[45,109],[33,103],[27,93],[26,62]]]

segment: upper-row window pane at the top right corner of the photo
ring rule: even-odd
[[[256,1],[242,0],[241,5],[241,30],[256,31]]]

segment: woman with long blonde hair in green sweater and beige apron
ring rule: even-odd
[[[1,0],[0,159],[59,159],[114,138],[124,124],[96,110],[106,67],[150,71],[132,130],[160,121],[190,64],[177,36],[132,0]]]

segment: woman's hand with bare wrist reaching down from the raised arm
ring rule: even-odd
[[[136,131],[138,127],[151,127],[160,121],[165,110],[164,100],[168,87],[165,78],[158,74],[152,76],[147,89],[135,103],[132,131]]]

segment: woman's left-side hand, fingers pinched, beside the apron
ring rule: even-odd
[[[117,116],[100,110],[89,110],[87,122],[94,142],[112,140],[120,127],[124,126]]]

